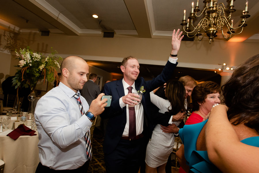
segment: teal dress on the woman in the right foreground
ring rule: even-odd
[[[179,130],[180,138],[184,144],[184,157],[186,164],[190,166],[189,172],[194,173],[218,173],[221,172],[214,164],[212,164],[207,155],[207,151],[197,151],[196,142],[205,125],[206,121],[197,124],[185,125]],[[259,136],[246,138],[240,142],[259,147]]]

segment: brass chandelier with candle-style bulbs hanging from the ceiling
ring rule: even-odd
[[[216,34],[218,30],[222,31],[222,35],[225,39],[230,39],[231,36],[240,34],[243,31],[243,28],[247,26],[247,24],[245,24],[245,20],[250,17],[250,15],[247,14],[248,1],[245,4],[245,10],[243,10],[243,14],[240,16],[240,18],[242,18],[241,24],[239,24],[237,28],[233,27],[233,20],[231,20],[232,13],[236,11],[236,9],[234,9],[233,1],[235,0],[227,0],[226,2],[230,3],[230,5],[226,8],[223,3],[219,3],[217,5],[218,0],[204,0],[203,3],[206,5],[206,7],[199,15],[197,14],[197,12],[200,11],[200,9],[198,9],[199,0],[197,0],[195,8],[193,2],[192,11],[188,17],[187,22],[185,20],[186,11],[184,10],[184,18],[181,23],[183,30],[190,38],[197,36],[199,41],[203,39],[204,34],[206,33],[206,35],[209,37],[210,43],[214,41],[215,37],[217,37]],[[205,14],[205,17],[202,18],[197,25],[194,24],[195,18],[200,17],[203,14]],[[191,31],[191,28],[189,27],[189,22],[191,22],[190,25],[193,28],[193,31]],[[225,36],[223,33],[224,28],[228,29],[227,36]],[[233,31],[234,29],[237,30],[239,28],[241,28],[239,33],[235,33],[235,31]],[[203,33],[203,36],[201,39],[199,39],[199,37],[202,35],[201,33]]]

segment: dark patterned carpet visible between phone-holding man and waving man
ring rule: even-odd
[[[106,173],[102,143],[103,133],[98,128],[95,128],[92,142],[93,155],[87,173]]]

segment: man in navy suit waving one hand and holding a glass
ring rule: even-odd
[[[148,136],[148,128],[151,123],[149,92],[170,79],[178,64],[177,52],[183,38],[182,32],[179,34],[179,31],[178,29],[177,32],[175,30],[173,32],[172,51],[160,75],[151,81],[145,81],[142,77],[137,78],[139,74],[138,60],[129,56],[121,62],[123,79],[104,85],[105,95],[112,96],[111,106],[106,107],[100,115],[102,118],[109,119],[103,144],[107,173],[138,172],[146,151],[146,142],[143,137]],[[135,101],[140,101],[140,99],[136,98],[138,95],[133,93],[140,90],[142,86],[145,92],[141,104],[137,104]],[[136,119],[135,136],[133,137],[132,128],[129,125],[130,121],[132,122],[129,116],[132,115],[132,106],[134,106]]]

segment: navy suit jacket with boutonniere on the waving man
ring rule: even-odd
[[[151,101],[149,93],[155,88],[163,85],[171,78],[177,64],[178,62],[173,64],[167,61],[162,73],[153,78],[151,81],[145,81],[142,77],[135,80],[136,90],[139,90],[141,86],[144,86],[144,89],[146,90],[142,96],[141,101],[141,104],[144,108],[144,135],[148,135],[150,133],[150,130],[148,129],[153,130],[153,121],[151,120],[150,113]],[[103,144],[104,153],[109,154],[118,145],[127,121],[126,106],[121,108],[119,104],[119,99],[125,96],[122,79],[106,83],[104,85],[103,92],[105,95],[112,96],[111,106],[106,107],[104,112],[100,115],[101,118],[109,118]]]

